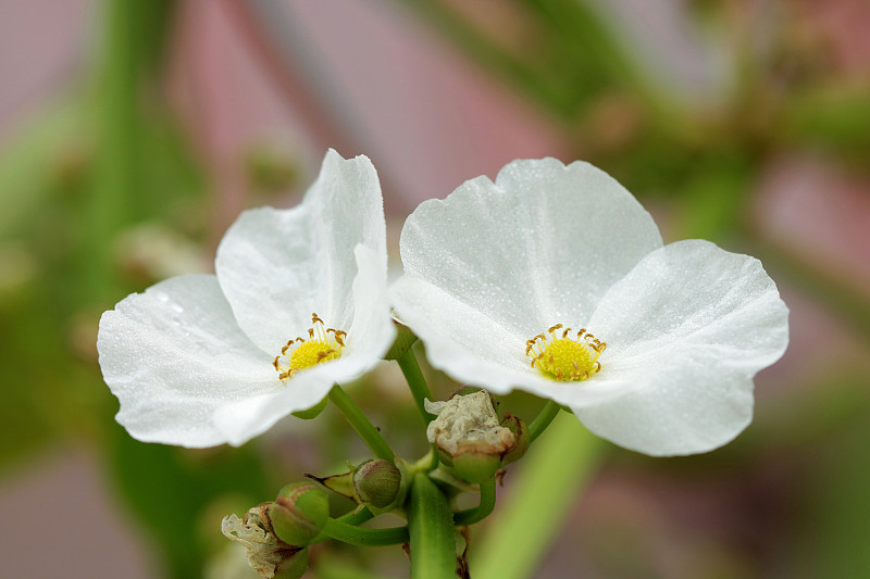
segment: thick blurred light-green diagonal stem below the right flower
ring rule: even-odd
[[[573,415],[559,416],[529,450],[522,470],[472,554],[474,579],[523,579],[559,532],[598,463],[599,439]]]

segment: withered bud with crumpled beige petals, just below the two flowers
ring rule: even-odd
[[[486,391],[456,395],[447,402],[425,401],[426,412],[437,415],[426,429],[439,457],[468,482],[481,482],[501,467],[501,457],[513,450],[513,432],[498,424]]]

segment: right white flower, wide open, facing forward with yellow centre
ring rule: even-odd
[[[788,342],[757,260],[700,240],[662,247],[649,213],[586,163],[514,161],[495,184],[424,202],[401,259],[395,310],[433,366],[554,400],[647,454],[733,439],[751,420],[753,377]]]

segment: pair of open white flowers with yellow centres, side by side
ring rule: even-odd
[[[586,163],[514,161],[424,202],[401,260],[388,290],[374,167],[330,151],[301,204],[241,214],[215,275],[169,279],[103,315],[117,420],[145,441],[241,444],[371,369],[395,316],[459,381],[552,400],[629,449],[689,454],[749,424],[753,377],[788,340],[757,260],[663,244]]]

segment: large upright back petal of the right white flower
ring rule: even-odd
[[[406,276],[523,342],[557,322],[587,319],[605,291],[659,247],[652,218],[622,186],[587,163],[555,159],[514,161],[495,184],[478,177],[426,201],[401,235]],[[406,309],[396,303],[399,316]]]

